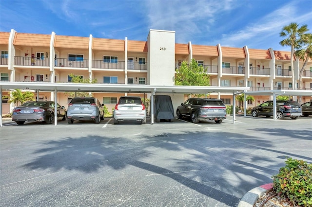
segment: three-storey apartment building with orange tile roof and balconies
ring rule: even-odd
[[[284,51],[193,45],[176,43],[174,31],[150,30],[146,41],[89,37],[0,32],[0,82],[71,83],[70,74],[97,80],[98,84],[174,86],[175,74],[183,61],[195,59],[210,75],[211,86],[248,86],[251,91],[292,89],[290,53]],[[295,86],[303,62],[294,58]],[[302,76],[302,90],[312,89],[312,60]],[[8,95],[9,91],[2,91]],[[94,93],[109,110],[120,96],[148,94]],[[39,100],[54,100],[54,93],[40,92]],[[59,104],[70,100],[57,93]],[[233,94],[211,93],[232,104]],[[186,96],[185,96],[186,98]],[[272,99],[254,96],[255,106]],[[302,102],[312,100],[302,97]],[[3,114],[14,107],[2,102]],[[241,103],[236,102],[236,105]],[[176,107],[176,106],[175,106]]]

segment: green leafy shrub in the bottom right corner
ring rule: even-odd
[[[312,206],[312,164],[288,158],[286,166],[273,175],[273,189],[280,196],[303,207]]]

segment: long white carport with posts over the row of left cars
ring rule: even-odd
[[[151,86],[151,85],[119,85],[119,84],[78,84],[78,83],[47,83],[47,82],[0,82],[0,103],[2,103],[3,89],[21,89],[54,92],[54,102],[57,92],[99,92],[99,93],[150,93],[151,94],[151,121],[154,123],[154,95],[155,94],[209,94],[232,93],[233,108],[235,108],[235,95],[246,92],[249,87],[236,86]],[[55,121],[57,125],[57,109],[55,108]],[[233,110],[233,123],[235,110]],[[2,104],[0,104],[0,127],[2,126]]]

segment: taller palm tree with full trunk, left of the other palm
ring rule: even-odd
[[[291,69],[292,69],[292,89],[295,89],[294,70],[293,70],[293,54],[295,49],[300,48],[300,39],[308,31],[308,25],[303,24],[300,28],[297,23],[290,23],[284,26],[279,36],[286,37],[286,39],[279,42],[282,46],[291,46]]]

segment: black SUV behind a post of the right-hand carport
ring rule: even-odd
[[[253,117],[263,115],[266,117],[273,116],[273,101],[264,102],[252,109]],[[295,101],[280,101],[276,100],[276,118],[284,119],[290,117],[295,120],[302,115],[301,105]]]

